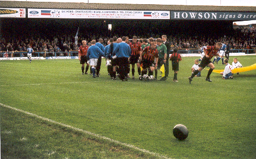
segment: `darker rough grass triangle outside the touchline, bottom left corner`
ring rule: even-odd
[[[156,158],[1,107],[1,158]]]

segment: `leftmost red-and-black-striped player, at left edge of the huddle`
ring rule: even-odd
[[[80,61],[80,64],[82,64],[82,75],[84,74],[84,63],[86,63],[86,74],[89,69],[89,63],[87,62],[87,50],[89,49],[89,46],[87,46],[86,40],[82,41],[82,44],[78,49],[78,59]]]

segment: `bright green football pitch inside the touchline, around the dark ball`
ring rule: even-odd
[[[243,66],[256,63],[255,55],[236,58]],[[0,103],[160,157],[255,158],[256,70],[233,80],[213,72],[208,82],[204,69],[189,84],[195,59],[182,58],[179,82],[172,82],[171,63],[166,81],[140,81],[137,69],[135,80],[121,81],[110,79],[105,59],[97,78],[81,75],[78,59],[0,61]],[[224,69],[221,63],[215,69]],[[177,124],[188,128],[184,141],[172,134]]]

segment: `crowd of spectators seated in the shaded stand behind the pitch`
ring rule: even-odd
[[[125,24],[123,24],[125,25]],[[143,21],[140,25],[143,25]],[[79,31],[78,34],[78,44],[75,44],[74,33],[67,34],[67,32],[62,33],[55,32],[55,34],[50,33],[49,35],[45,33],[37,33],[28,37],[24,34],[15,34],[15,36],[7,37],[2,36],[0,39],[0,52],[21,52],[27,51],[27,47],[30,45],[35,52],[70,52],[72,50],[78,50],[81,45],[82,40],[91,41],[93,39],[104,40],[106,45],[109,38],[112,36],[138,36],[140,39],[148,39],[149,37],[158,38],[162,34],[166,34],[168,41],[170,42],[171,48],[178,47],[178,49],[200,49],[204,43],[213,45],[216,42],[228,42],[231,49],[252,49],[256,47],[256,27],[238,27],[233,29],[229,34],[187,34],[187,32],[181,33],[170,33],[163,32],[154,24],[151,26],[143,26],[134,28],[127,28],[122,30],[125,26],[119,26],[111,31],[108,28],[99,27],[96,29],[86,29]],[[145,27],[151,28],[147,31],[144,30]]]

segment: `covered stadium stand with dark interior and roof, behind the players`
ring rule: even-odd
[[[144,10],[197,10],[197,11],[255,11],[255,7],[208,7],[184,5],[134,5],[134,4],[86,4],[59,2],[19,2],[1,1],[2,7],[57,8],[57,9],[144,9]],[[112,30],[108,30],[112,24]],[[2,18],[0,22],[0,57],[7,52],[20,52],[11,56],[22,56],[30,44],[37,52],[64,52],[69,55],[77,50],[81,40],[91,41],[102,38],[107,44],[113,36],[138,36],[139,38],[158,38],[166,34],[171,47],[179,50],[197,50],[204,43],[229,42],[231,49],[252,49],[256,47],[256,26],[233,29],[232,21],[204,20],[78,20],[78,19],[44,19],[44,18]],[[74,36],[77,28],[78,45]],[[190,52],[191,53],[191,52]],[[192,52],[193,53],[193,52]],[[248,53],[255,53],[255,50]],[[43,56],[35,54],[34,56]]]

